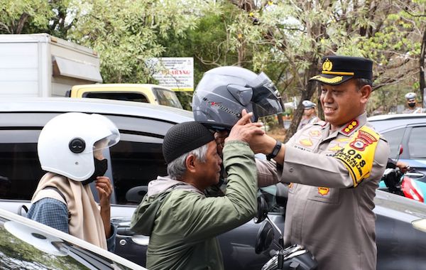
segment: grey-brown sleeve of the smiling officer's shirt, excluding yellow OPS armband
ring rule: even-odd
[[[387,141],[378,140],[374,152],[373,166],[366,180],[381,178],[388,161]],[[298,148],[286,147],[281,182],[328,188],[350,188],[354,186],[348,169],[342,161],[333,156],[310,153]]]

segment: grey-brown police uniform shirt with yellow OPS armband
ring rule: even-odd
[[[376,269],[373,198],[389,147],[378,134],[370,136],[372,128],[360,130],[364,125],[369,126],[366,113],[337,131],[320,121],[285,144],[281,181],[290,183],[285,243],[304,245],[319,269]],[[352,153],[349,145],[359,150]]]

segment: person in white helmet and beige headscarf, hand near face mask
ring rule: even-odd
[[[99,114],[70,112],[48,121],[38,138],[38,158],[48,173],[40,179],[27,217],[114,251],[110,222],[112,185],[102,150],[120,139],[119,130]],[[99,205],[89,184],[95,182]]]

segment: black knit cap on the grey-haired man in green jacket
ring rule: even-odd
[[[214,140],[212,132],[196,121],[175,124],[163,140],[163,156],[166,163]]]

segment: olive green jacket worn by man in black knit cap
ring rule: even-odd
[[[148,185],[131,220],[133,232],[150,236],[148,269],[224,269],[216,236],[255,215],[257,178],[248,144],[229,141],[223,153],[224,197],[206,198],[192,185],[165,177]]]

